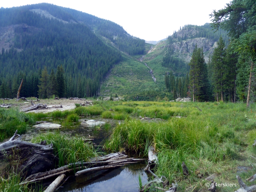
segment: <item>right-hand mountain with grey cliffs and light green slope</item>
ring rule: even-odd
[[[147,54],[133,57],[132,62],[122,61],[111,69],[101,86],[100,95],[117,93],[131,100],[170,100],[170,95],[165,93],[165,73],[172,73],[175,77],[186,76],[196,44],[203,47],[204,58],[208,62],[220,36],[228,45],[227,32],[223,30],[214,33],[208,23],[203,26],[186,25],[156,45],[146,44]],[[151,78],[151,70],[156,82]]]

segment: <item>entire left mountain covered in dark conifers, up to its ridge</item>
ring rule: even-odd
[[[46,3],[1,8],[0,84],[6,90],[2,97],[14,97],[22,78],[21,95],[38,97],[41,70],[55,73],[60,65],[65,73],[62,97],[97,95],[100,82],[122,60],[119,50],[142,54],[144,44],[114,22],[69,8]]]

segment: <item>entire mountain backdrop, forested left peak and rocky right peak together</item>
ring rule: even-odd
[[[23,97],[38,97],[44,80],[50,82],[43,96],[48,98],[60,96],[61,86],[62,97],[166,99],[165,73],[184,77],[195,45],[203,47],[207,61],[220,35],[228,44],[227,33],[214,33],[209,24],[186,25],[153,45],[112,21],[69,8],[46,3],[1,8],[0,86],[6,90],[1,94],[15,97],[23,78]]]

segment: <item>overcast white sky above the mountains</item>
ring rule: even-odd
[[[52,3],[114,21],[130,34],[146,41],[158,41],[186,24],[211,22],[212,10],[231,0],[1,0],[0,7]]]

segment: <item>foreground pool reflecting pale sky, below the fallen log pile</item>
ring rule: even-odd
[[[130,164],[117,169],[99,171],[90,175],[81,175],[73,178],[60,188],[59,192],[138,192],[139,174],[142,175],[142,184],[148,181],[144,172],[144,163]]]

